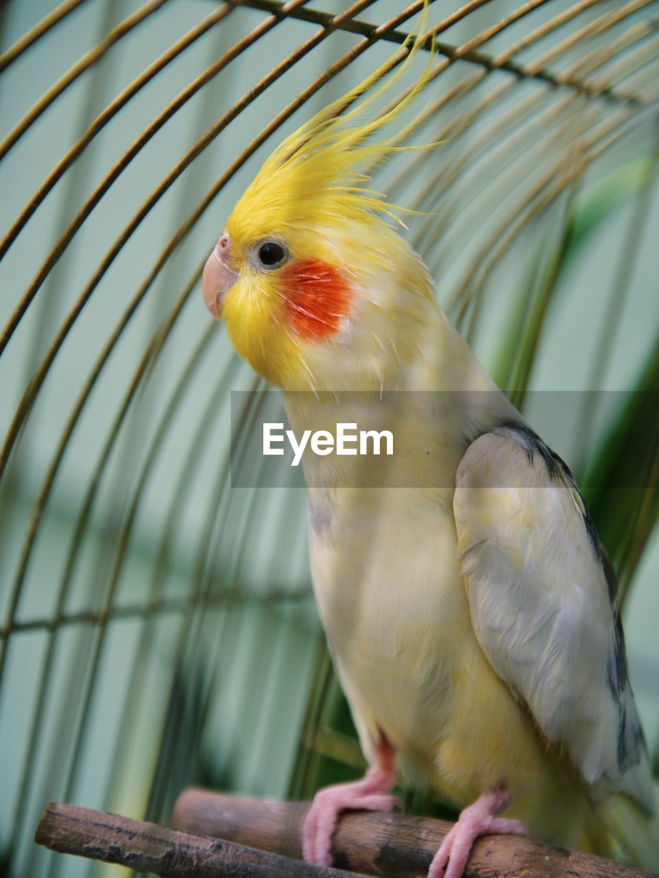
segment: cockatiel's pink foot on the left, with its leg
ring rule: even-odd
[[[302,853],[308,863],[332,865],[332,836],[336,818],[347,809],[389,811],[400,801],[390,795],[394,785],[394,750],[386,738],[376,749],[376,765],[361,781],[337,783],[313,797],[302,825]]]

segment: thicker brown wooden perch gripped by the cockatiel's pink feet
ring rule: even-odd
[[[172,825],[297,858],[302,855],[300,825],[308,808],[308,802],[277,802],[187,789],[175,803]],[[452,825],[405,814],[347,811],[334,833],[334,864],[387,878],[425,878],[434,853]],[[465,875],[641,878],[649,873],[601,857],[542,845],[530,838],[499,835],[476,841]]]

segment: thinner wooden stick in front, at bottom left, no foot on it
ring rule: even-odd
[[[34,840],[59,853],[119,863],[163,878],[367,878],[58,802],[44,811]]]

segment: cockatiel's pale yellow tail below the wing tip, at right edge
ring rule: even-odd
[[[659,785],[656,783],[654,792],[652,814],[623,794],[613,795],[598,810],[634,863],[659,874]]]

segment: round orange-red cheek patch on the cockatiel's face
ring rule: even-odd
[[[304,338],[334,335],[350,307],[350,287],[340,270],[318,259],[298,259],[281,276],[286,316]]]

